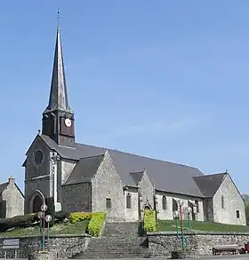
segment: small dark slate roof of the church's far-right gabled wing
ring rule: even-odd
[[[200,192],[205,197],[213,197],[219,190],[224,178],[228,173],[217,173],[211,175],[204,175],[200,177],[193,177]]]

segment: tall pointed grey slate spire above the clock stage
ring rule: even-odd
[[[60,111],[66,111],[72,113],[71,108],[68,106],[68,92],[67,92],[66,75],[65,75],[64,63],[63,63],[62,46],[60,40],[59,22],[57,27],[57,36],[56,36],[53,67],[52,67],[52,83],[51,83],[49,104],[45,109],[44,113],[54,111],[54,110],[60,110]]]

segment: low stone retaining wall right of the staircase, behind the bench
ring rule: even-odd
[[[213,246],[237,244],[244,247],[249,233],[238,232],[185,232],[187,247],[193,256],[212,255]],[[181,233],[149,232],[149,252],[152,256],[170,256],[173,250],[181,249]]]

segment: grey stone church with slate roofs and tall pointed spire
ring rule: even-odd
[[[183,201],[183,217],[245,225],[245,204],[228,172],[199,169],[121,151],[76,143],[74,113],[68,104],[60,28],[42,131],[28,149],[25,213],[37,212],[45,198],[55,209],[107,211],[109,221],[138,221],[144,209],[173,219]]]

